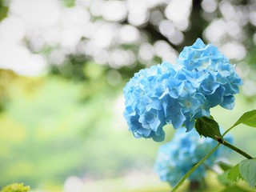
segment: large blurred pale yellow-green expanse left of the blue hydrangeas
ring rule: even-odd
[[[92,65],[90,71],[96,81],[51,75],[8,83],[8,102],[0,114],[0,170],[5,175],[0,186],[60,184],[70,175],[115,177],[136,164],[152,165],[158,145],[144,141],[145,149],[143,141],[115,127],[113,106],[120,89],[106,84],[102,69]]]

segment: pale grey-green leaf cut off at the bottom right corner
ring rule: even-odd
[[[249,186],[256,187],[256,159],[245,159],[239,163],[239,170],[242,178],[246,180]]]

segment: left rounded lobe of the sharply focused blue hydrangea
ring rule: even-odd
[[[174,127],[182,126],[185,117],[180,112],[181,106],[170,110],[175,99],[182,94],[184,86],[182,80],[175,78],[177,71],[177,66],[163,62],[161,65],[140,70],[124,87],[124,117],[136,138],[162,141],[165,137],[162,127],[172,118],[175,118],[172,122]],[[175,114],[170,114],[174,112]]]

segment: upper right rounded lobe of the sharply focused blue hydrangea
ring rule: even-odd
[[[210,107],[220,105],[228,110],[234,108],[234,94],[238,94],[242,79],[216,46],[206,46],[198,38],[194,45],[182,50],[177,62],[189,71],[186,72],[186,79],[193,83],[194,88],[198,87],[197,92],[206,98]]]

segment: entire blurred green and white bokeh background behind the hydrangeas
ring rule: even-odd
[[[256,108],[254,0],[0,0],[0,21],[0,189],[169,191],[153,169],[161,143],[135,139],[122,118],[122,87],[196,38],[244,82],[234,110],[214,118],[227,129]],[[232,134],[256,156],[255,130]]]

